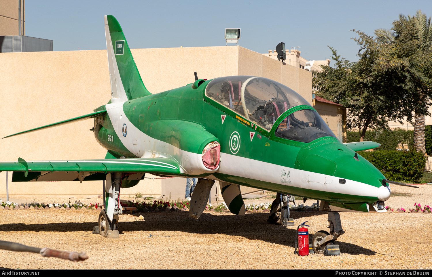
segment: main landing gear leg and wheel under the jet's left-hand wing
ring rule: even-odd
[[[107,174],[105,182],[105,209],[99,213],[98,226],[93,227],[93,233],[99,233],[107,238],[118,238],[118,216],[122,214],[120,205],[121,172]]]

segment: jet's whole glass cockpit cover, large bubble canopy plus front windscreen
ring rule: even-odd
[[[291,88],[263,77],[216,78],[207,85],[206,95],[268,131],[277,118],[289,108],[310,106],[305,98]],[[335,137],[324,120],[313,110],[290,114],[280,123],[275,135],[301,142],[311,142],[323,136]]]

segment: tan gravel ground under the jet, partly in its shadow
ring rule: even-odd
[[[432,206],[432,186],[391,186],[392,208]],[[18,198],[18,197],[17,197]],[[23,199],[23,198],[20,198]],[[66,200],[67,199],[67,200]],[[33,199],[23,199],[33,201]],[[72,198],[86,204],[100,198]],[[68,202],[69,198],[38,198]],[[245,202],[262,203],[271,198]],[[302,201],[300,201],[302,202]],[[306,205],[313,200],[306,201]],[[249,204],[249,203],[247,203]],[[144,220],[138,218],[144,216]],[[432,214],[340,213],[345,234],[337,243],[340,256],[293,254],[297,226],[267,224],[268,213],[236,216],[205,211],[198,220],[187,212],[146,212],[120,216],[120,238],[91,234],[98,211],[0,210],[0,240],[35,247],[85,251],[89,259],[74,263],[38,254],[0,250],[3,268],[20,269],[432,269]],[[328,230],[325,212],[292,212],[295,224],[309,221],[310,240]],[[89,234],[90,233],[90,234]],[[151,236],[150,236],[151,235]]]

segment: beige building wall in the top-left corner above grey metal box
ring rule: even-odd
[[[19,35],[19,0],[0,0],[0,36]],[[21,28],[25,35],[25,1],[21,0]]]

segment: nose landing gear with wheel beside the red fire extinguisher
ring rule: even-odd
[[[325,254],[327,251],[326,246],[333,245],[333,242],[339,236],[342,236],[345,233],[345,231],[342,230],[342,223],[340,222],[339,213],[336,211],[328,211],[327,214],[328,214],[327,221],[329,222],[330,233],[321,230],[315,233],[312,239],[312,248],[314,249],[314,252],[317,254]],[[337,247],[337,249],[339,249],[339,247]],[[339,255],[339,254],[332,254],[332,255]]]

